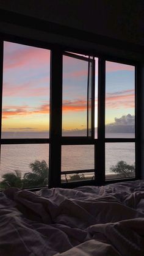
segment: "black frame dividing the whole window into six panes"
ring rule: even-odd
[[[49,188],[62,187],[74,188],[83,185],[104,185],[119,181],[137,180],[140,178],[140,87],[139,87],[139,62],[128,59],[107,56],[90,51],[69,49],[68,46],[52,45],[38,40],[0,35],[0,109],[2,117],[2,71],[3,71],[3,45],[4,41],[21,43],[51,50],[51,84],[50,84],[50,123],[49,139],[0,139],[3,144],[49,144]],[[65,51],[90,55],[98,58],[98,137],[62,137],[62,56]],[[110,139],[105,137],[105,95],[106,95],[106,60],[135,66],[135,138]],[[57,70],[57,76],[56,76]],[[59,93],[56,93],[56,87]],[[94,109],[94,108],[93,108]],[[56,115],[57,112],[57,115]],[[0,117],[0,119],[1,119]],[[1,119],[2,120],[2,119]],[[1,126],[0,120],[0,126]],[[1,135],[1,128],[0,128]],[[105,144],[109,142],[135,142],[135,178],[105,180]],[[61,147],[62,145],[94,145],[95,147],[95,180],[60,183],[61,177]],[[98,149],[98,150],[97,150]],[[57,161],[56,161],[57,159]],[[34,188],[37,190],[40,188]]]

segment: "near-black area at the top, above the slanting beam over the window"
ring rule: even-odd
[[[0,8],[144,45],[143,0],[1,0]]]

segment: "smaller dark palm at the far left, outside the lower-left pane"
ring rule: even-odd
[[[0,187],[6,188],[23,188],[23,179],[21,178],[21,171],[14,170],[2,175],[3,180],[0,182]]]

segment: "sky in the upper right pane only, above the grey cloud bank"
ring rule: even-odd
[[[135,67],[106,61],[106,124],[135,115]]]

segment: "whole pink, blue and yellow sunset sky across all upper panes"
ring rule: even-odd
[[[87,74],[87,60],[63,56],[63,133],[87,127]],[[106,124],[134,115],[134,80],[134,67],[106,62]],[[49,130],[49,82],[48,49],[4,42],[2,131]]]

